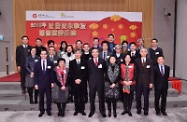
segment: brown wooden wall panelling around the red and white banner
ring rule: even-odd
[[[142,12],[145,45],[153,37],[153,0],[13,0],[14,49],[26,34],[25,11],[125,11]]]

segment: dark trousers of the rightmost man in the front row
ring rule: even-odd
[[[159,101],[161,98],[161,108],[159,106]],[[162,112],[166,111],[166,101],[167,101],[167,89],[157,90],[155,89],[155,111]]]

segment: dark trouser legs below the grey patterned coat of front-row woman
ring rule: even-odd
[[[111,112],[112,107],[113,107],[113,112],[116,112],[117,99],[115,99],[115,98],[107,98],[106,102],[107,102],[108,111]]]

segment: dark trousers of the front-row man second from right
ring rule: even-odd
[[[138,111],[142,109],[141,97],[144,96],[144,111],[149,111],[149,87],[144,87],[143,83],[136,87],[136,108]]]

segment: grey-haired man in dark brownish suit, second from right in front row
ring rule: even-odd
[[[137,68],[137,79],[136,79],[136,107],[137,114],[141,114],[141,96],[144,96],[144,115],[148,115],[149,111],[149,91],[153,87],[154,71],[152,60],[146,58],[147,49],[141,48],[141,58],[135,60]]]

